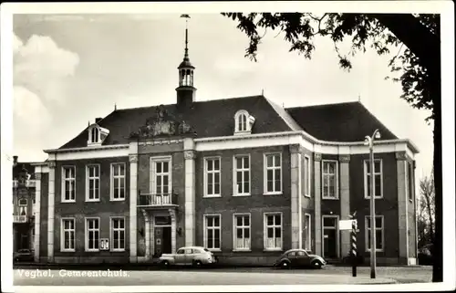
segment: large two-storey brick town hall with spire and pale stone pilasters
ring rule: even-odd
[[[35,259],[151,262],[204,246],[221,263],[270,264],[290,248],[415,264],[415,145],[360,102],[285,109],[263,95],[199,101],[187,46],[176,102],[114,110],[35,164]],[[369,149],[377,214],[370,224]]]

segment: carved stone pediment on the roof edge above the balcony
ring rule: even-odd
[[[196,132],[187,121],[178,119],[161,105],[155,108],[155,113],[138,132],[130,133],[130,138],[152,139],[184,135],[196,135]]]

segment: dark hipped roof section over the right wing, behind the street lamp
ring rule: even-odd
[[[286,111],[304,131],[321,141],[364,141],[365,136],[376,129],[381,140],[398,139],[358,101],[288,108]]]

